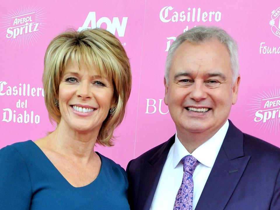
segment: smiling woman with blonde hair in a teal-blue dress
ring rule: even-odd
[[[94,151],[112,146],[125,114],[130,65],[103,29],[65,32],[47,48],[45,103],[57,128],[0,150],[0,209],[128,210],[125,171]]]

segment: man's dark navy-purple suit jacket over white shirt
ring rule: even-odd
[[[131,210],[149,210],[175,135],[127,165]],[[280,210],[280,149],[230,122],[195,210]]]

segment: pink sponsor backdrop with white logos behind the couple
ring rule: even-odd
[[[127,51],[133,81],[115,146],[96,150],[126,167],[175,133],[163,102],[165,59],[176,36],[199,25],[223,28],[239,46],[241,84],[230,119],[280,147],[279,1],[14,0],[3,1],[0,14],[0,148],[55,129],[41,82],[50,41],[67,29],[101,27]]]

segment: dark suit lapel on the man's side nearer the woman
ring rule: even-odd
[[[162,168],[169,153],[169,149],[172,144],[174,144],[174,141],[175,135],[165,142],[150,159],[143,160],[137,209],[150,209]]]

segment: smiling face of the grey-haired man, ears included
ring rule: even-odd
[[[164,82],[164,103],[179,138],[190,133],[213,136],[237,101],[239,82],[240,76],[232,86],[230,55],[218,40],[182,43],[172,59],[169,82]]]

